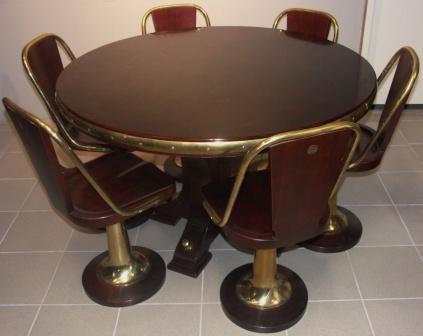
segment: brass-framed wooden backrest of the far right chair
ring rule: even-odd
[[[380,74],[377,80],[378,87],[394,69],[395,64],[397,67],[377,130],[350,168],[359,165],[371,150],[373,151],[374,159],[380,161],[392,139],[402,111],[416,82],[419,73],[419,58],[411,47],[403,47],[398,50]]]

